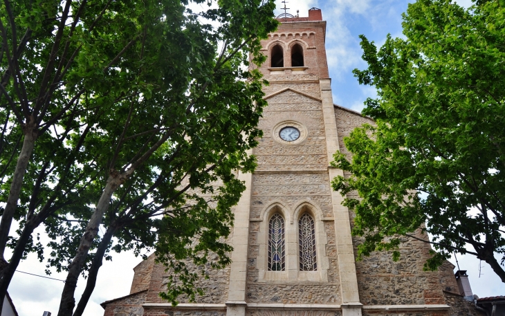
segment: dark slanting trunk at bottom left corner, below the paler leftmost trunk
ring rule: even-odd
[[[21,236],[19,236],[19,240],[17,241],[16,248],[14,252],[12,252],[12,257],[8,265],[1,270],[1,279],[0,279],[0,306],[3,306],[3,299],[6,297],[7,289],[9,288],[10,281],[12,281],[12,277],[14,276],[14,272],[16,272],[17,266],[19,266],[19,262],[21,262],[21,258],[23,258],[23,253],[25,250],[26,243],[30,240],[30,236],[35,230],[35,227],[40,225],[41,221],[28,221],[24,227],[23,232],[21,232]],[[0,316],[2,310],[0,308]]]

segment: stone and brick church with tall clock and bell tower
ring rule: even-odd
[[[353,214],[330,185],[346,175],[329,162],[336,151],[349,154],[343,138],[373,121],[333,104],[321,10],[278,19],[261,41],[268,106],[252,150],[257,169],[239,174],[247,189],[228,239],[232,263],[209,270],[199,284],[205,295],[172,307],[158,295],[168,275],[152,255],[134,268],[129,295],[102,303],[104,316],[486,315],[461,290],[464,272],[458,283],[449,262],[423,271],[428,243],[405,239],[397,262],[388,252],[356,261]]]

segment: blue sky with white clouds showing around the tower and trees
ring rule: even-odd
[[[471,4],[470,0],[457,2],[461,6]],[[288,0],[288,13],[295,15],[296,10],[300,10],[300,17],[306,17],[309,8],[320,8],[323,19],[327,21],[326,48],[334,103],[361,111],[365,99],[376,96],[374,88],[360,86],[351,73],[354,68],[366,67],[361,59],[358,35],[365,35],[378,46],[385,42],[388,33],[393,37],[401,37],[401,14],[407,9],[408,3],[404,0]],[[282,6],[284,4],[277,0],[277,15],[283,12],[279,10]],[[15,227],[12,227],[11,232],[14,230]],[[42,230],[38,232],[42,233]],[[461,270],[468,270],[474,294],[479,297],[505,294],[505,285],[487,263],[479,262],[471,255],[458,255],[457,259]],[[100,303],[128,295],[134,276],[132,269],[140,261],[131,253],[113,254],[112,261],[104,261],[84,315],[103,315]],[[456,264],[454,258],[451,262]],[[30,254],[17,270],[45,275],[45,263],[39,263],[35,254]],[[66,274],[53,272],[49,277],[65,279]],[[77,301],[85,282],[81,277],[77,284]],[[9,292],[20,316],[42,316],[44,310],[56,315],[63,286],[62,281],[16,272]]]

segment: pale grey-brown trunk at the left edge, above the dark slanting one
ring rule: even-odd
[[[31,118],[31,120],[35,121],[33,118]],[[19,194],[21,194],[21,186],[23,185],[23,178],[26,174],[26,167],[28,167],[28,162],[32,156],[35,140],[37,140],[37,131],[33,128],[33,124],[35,124],[35,122],[28,122],[26,124],[23,147],[21,147],[21,153],[19,153],[19,157],[17,158],[16,169],[12,175],[12,183],[10,183],[6,208],[3,210],[0,222],[0,261],[2,263],[6,263],[3,252],[6,250],[10,224],[12,224],[12,218],[17,208]]]

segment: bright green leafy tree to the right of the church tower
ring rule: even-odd
[[[363,114],[374,118],[345,138],[351,159],[333,180],[356,212],[358,257],[394,250],[422,227],[437,252],[435,269],[452,252],[486,261],[505,282],[505,8],[500,1],[464,9],[418,0],[403,15],[406,39],[379,49],[363,35],[360,84],[376,86]]]

